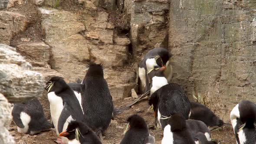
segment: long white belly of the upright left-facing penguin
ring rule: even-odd
[[[50,112],[53,121],[54,128],[56,129],[56,134],[59,135],[58,131],[58,121],[61,111],[63,109],[63,100],[61,97],[55,95],[55,92],[48,93],[48,100],[50,102]]]

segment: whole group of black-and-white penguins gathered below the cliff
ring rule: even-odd
[[[155,128],[163,130],[161,144],[216,144],[210,129],[223,121],[200,103],[189,101],[181,85],[171,83],[171,53],[163,48],[150,50],[139,63],[138,75],[154,111]],[[52,124],[46,120],[38,99],[13,106],[18,131],[30,135],[56,129],[59,144],[102,144],[111,119],[120,113],[114,108],[104,67],[91,62],[82,81],[66,83],[58,76],[46,83]],[[230,113],[237,144],[256,144],[256,104],[241,101]],[[155,144],[147,122],[139,115],[127,119],[120,144]]]

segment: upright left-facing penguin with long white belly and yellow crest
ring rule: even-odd
[[[59,132],[66,129],[68,121],[82,121],[84,119],[83,112],[74,91],[66,84],[64,79],[59,76],[54,76],[46,85],[51,118],[56,128],[56,134],[59,135]],[[67,142],[64,137],[62,137],[62,140],[64,140],[64,142],[58,142]]]

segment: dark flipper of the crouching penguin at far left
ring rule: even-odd
[[[19,127],[19,128],[25,128],[23,125],[21,119],[20,119],[20,113],[24,110],[24,105],[21,104],[15,104],[13,106],[13,111],[12,111],[12,116],[13,116],[13,121],[14,123]]]

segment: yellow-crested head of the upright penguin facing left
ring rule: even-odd
[[[53,76],[48,82],[46,82],[46,90],[49,92],[59,93],[69,86],[66,84],[64,79],[59,76]]]

